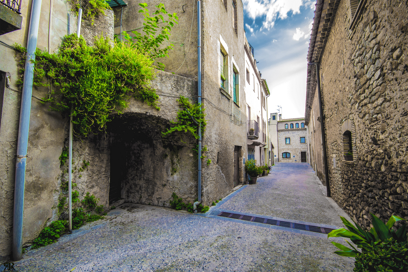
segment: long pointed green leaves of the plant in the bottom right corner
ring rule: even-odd
[[[327,234],[327,238],[329,237],[346,237],[350,238],[350,240],[357,245],[357,248],[361,248],[363,251],[370,251],[373,250],[373,246],[378,245],[384,241],[388,241],[388,239],[393,238],[397,243],[407,241],[406,235],[406,225],[399,228],[397,231],[394,231],[392,227],[394,226],[396,221],[405,220],[399,216],[392,215],[388,222],[384,224],[381,219],[370,213],[373,218],[373,228],[370,231],[363,230],[360,226],[354,222],[355,226],[350,223],[344,217],[340,217],[341,221],[343,221],[344,225],[348,228],[340,228],[337,230],[332,230],[329,234]],[[348,248],[344,245],[341,245],[336,242],[331,242],[339,251],[335,251],[337,255],[345,256],[345,257],[356,257],[357,254],[360,252],[355,248],[350,242],[346,240],[346,242],[352,247]]]

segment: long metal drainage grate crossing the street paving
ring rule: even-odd
[[[324,234],[328,234],[329,232],[334,230],[333,228],[323,228],[323,227],[317,227],[317,226],[311,226],[311,225],[291,223],[291,222],[286,222],[286,221],[279,221],[275,219],[253,217],[249,215],[239,215],[237,213],[232,213],[232,212],[221,212],[218,216],[245,220],[245,221],[251,221],[251,222],[262,223],[262,224],[275,225],[275,226],[280,226],[280,227],[285,227],[285,228],[294,228],[297,230],[306,230],[306,231],[311,231],[311,232],[324,233]]]

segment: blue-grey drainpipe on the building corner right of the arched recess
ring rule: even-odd
[[[201,105],[201,1],[197,0],[197,69],[198,69],[198,104]],[[200,106],[201,115],[201,106]],[[198,201],[193,204],[193,212],[201,204],[201,122],[198,125]]]

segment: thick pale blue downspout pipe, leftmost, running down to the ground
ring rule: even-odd
[[[32,2],[30,24],[27,39],[27,57],[24,64],[24,82],[21,97],[20,124],[18,126],[16,181],[14,184],[13,213],[13,260],[22,258],[22,234],[24,215],[24,181],[27,162],[27,144],[30,125],[31,95],[33,93],[33,77],[35,49],[37,48],[38,25],[40,24],[42,0]]]

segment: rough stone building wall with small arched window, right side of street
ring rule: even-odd
[[[308,61],[320,64],[323,120],[316,68],[308,66],[311,164],[324,175],[319,150],[326,148],[331,197],[365,228],[372,226],[370,212],[383,221],[391,215],[408,219],[407,5],[316,4]],[[320,148],[322,127],[326,146]]]

